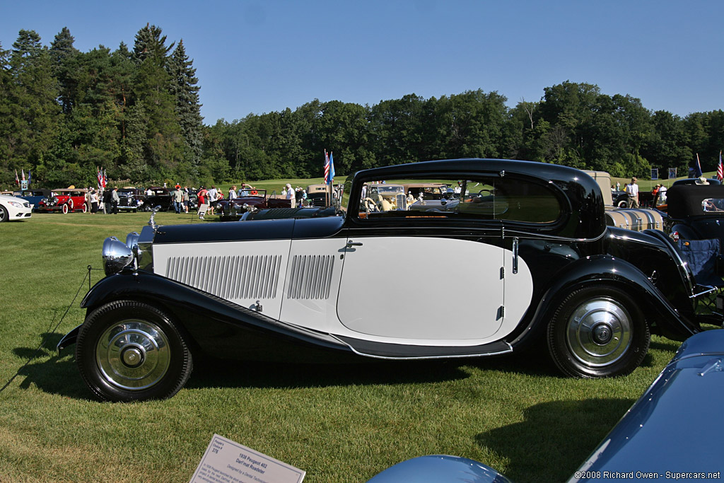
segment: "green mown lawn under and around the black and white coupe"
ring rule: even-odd
[[[206,223],[173,213],[156,220]],[[34,214],[0,224],[0,386],[17,374],[0,392],[0,481],[186,482],[214,433],[307,471],[306,482],[363,482],[432,453],[476,459],[519,483],[563,481],[678,347],[654,337],[639,369],[604,380],[560,377],[546,358],[526,354],[198,364],[170,400],[99,403],[72,349],[54,347],[83,322],[86,267],[101,268],[104,238],[125,240],[146,222],[142,213]],[[102,274],[93,270],[92,281]]]

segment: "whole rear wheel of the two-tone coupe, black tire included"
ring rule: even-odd
[[[630,295],[613,286],[573,291],[548,323],[548,350],[564,374],[613,377],[644,360],[651,334]]]

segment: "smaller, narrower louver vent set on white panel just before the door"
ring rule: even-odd
[[[332,255],[295,255],[287,298],[326,299],[332,285]]]

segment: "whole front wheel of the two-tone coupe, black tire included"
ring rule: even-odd
[[[88,314],[75,344],[80,375],[98,398],[128,402],[179,392],[193,359],[163,311],[138,301],[114,301]]]

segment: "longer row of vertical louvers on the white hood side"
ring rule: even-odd
[[[227,300],[277,296],[282,256],[172,256],[166,277]]]

